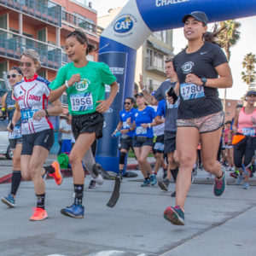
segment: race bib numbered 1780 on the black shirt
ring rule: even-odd
[[[180,84],[180,93],[183,101],[198,99],[205,96],[204,87],[196,84]]]

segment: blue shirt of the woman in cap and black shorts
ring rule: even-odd
[[[143,111],[139,111],[137,108],[134,112],[134,121],[137,126],[134,136],[154,137],[152,127],[143,128],[141,126],[141,124],[152,123],[154,117],[154,108],[147,106]]]

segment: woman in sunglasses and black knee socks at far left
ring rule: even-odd
[[[15,84],[23,79],[23,73],[19,67],[11,67],[7,75],[9,84],[14,88]],[[9,90],[2,98],[2,118],[12,121],[15,113],[15,99],[13,98],[13,90]],[[9,132],[9,145],[13,151],[13,175],[10,193],[3,196],[1,201],[9,207],[15,207],[15,195],[19,189],[21,181],[20,172],[20,152],[22,148],[20,120],[16,123],[13,132]]]

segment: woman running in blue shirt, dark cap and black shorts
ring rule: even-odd
[[[131,124],[131,118],[129,118],[127,119],[127,123],[131,125],[131,127],[136,127],[133,135],[133,148],[140,170],[143,172],[143,177],[145,178],[141,187],[148,185],[154,186],[157,180],[155,174],[152,173],[147,158],[153,146],[154,134],[152,127],[156,125],[154,122],[155,111],[154,108],[146,105],[146,100],[142,92],[137,93],[135,97],[137,100],[137,109],[135,109],[133,113],[134,121],[133,124]]]

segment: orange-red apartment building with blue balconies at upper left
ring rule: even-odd
[[[99,32],[96,10],[89,3],[68,0],[0,0],[0,84],[3,72],[17,66],[23,49],[38,51],[42,68],[38,74],[52,80],[68,62],[65,38],[75,28],[83,30],[96,49]],[[97,60],[96,54],[88,56]]]

